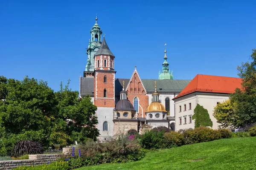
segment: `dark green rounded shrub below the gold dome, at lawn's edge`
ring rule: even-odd
[[[150,130],[140,136],[140,144],[145,149],[160,149],[165,147],[164,131]]]

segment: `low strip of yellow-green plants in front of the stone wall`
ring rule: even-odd
[[[42,164],[38,166],[30,166],[30,167],[17,167],[13,170],[70,170],[68,165],[68,161],[56,161],[50,164]]]

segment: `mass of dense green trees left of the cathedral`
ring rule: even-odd
[[[65,88],[55,92],[47,82],[24,77],[22,81],[0,77],[0,155],[9,155],[15,143],[40,142],[45,148],[96,140],[99,130],[90,96]],[[5,89],[5,90],[3,90]]]

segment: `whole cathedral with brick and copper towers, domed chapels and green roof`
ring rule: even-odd
[[[97,17],[90,34],[87,65],[83,77],[80,76],[79,95],[90,95],[97,106],[100,139],[106,140],[130,129],[142,133],[145,129],[166,126],[175,130],[175,103],[172,99],[191,80],[173,79],[166,48],[158,79],[142,79],[136,66],[130,79],[116,78],[115,56],[102,37]]]

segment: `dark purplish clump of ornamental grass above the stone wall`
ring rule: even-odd
[[[41,154],[44,152],[44,147],[34,141],[20,141],[15,144],[12,156],[18,157],[26,154]]]

